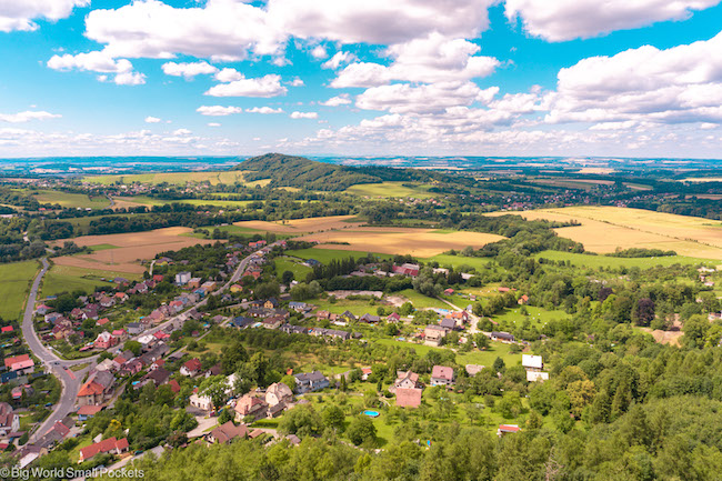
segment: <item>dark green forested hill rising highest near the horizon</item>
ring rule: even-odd
[[[282,153],[253,157],[239,163],[233,170],[244,171],[247,181],[271,179],[272,186],[330,191],[344,190],[358,183],[390,180],[429,181],[438,176],[413,169],[334,166]]]

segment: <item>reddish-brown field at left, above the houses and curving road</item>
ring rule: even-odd
[[[142,273],[146,268],[140,265],[139,261],[152,259],[159,252],[215,242],[183,236],[189,232],[192,232],[189,228],[171,227],[148,232],[86,236],[73,241],[80,247],[117,245],[117,248],[98,250],[91,254],[57,258],[56,263],[83,269]],[[63,241],[57,242],[62,244]]]

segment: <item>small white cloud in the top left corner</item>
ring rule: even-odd
[[[36,30],[34,19],[64,19],[74,7],[89,4],[90,0],[7,0],[0,3],[0,31]]]

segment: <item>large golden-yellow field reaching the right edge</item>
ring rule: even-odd
[[[674,250],[680,255],[722,259],[722,222],[641,209],[615,207],[569,207],[518,213],[525,219],[575,220],[582,226],[556,229],[561,237],[584,244],[592,252],[609,253],[618,248]]]

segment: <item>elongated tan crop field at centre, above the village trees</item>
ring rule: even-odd
[[[321,244],[320,248],[429,258],[451,249],[463,249],[467,245],[478,249],[490,242],[497,242],[503,237],[480,232],[460,231],[452,236],[432,229],[369,227],[317,232],[300,239],[317,241]]]

